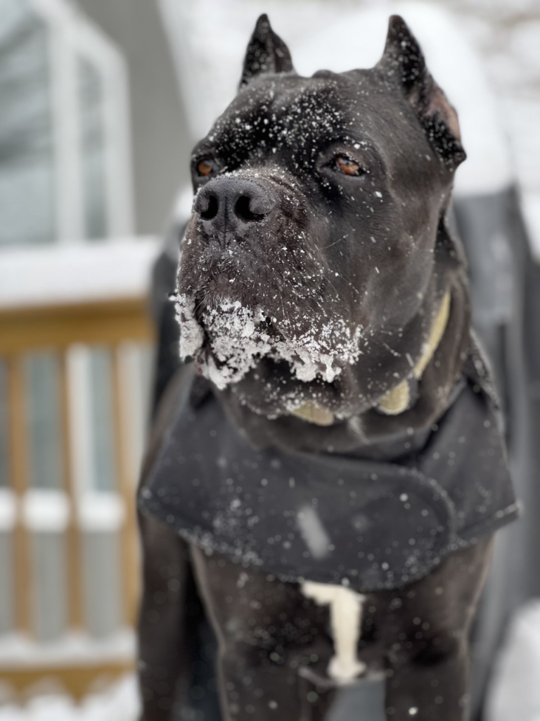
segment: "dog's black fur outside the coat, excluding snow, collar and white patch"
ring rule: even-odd
[[[339,174],[336,154],[350,156],[364,173]],[[336,314],[361,324],[365,335],[363,355],[331,384],[302,384],[287,363],[261,358],[220,392],[254,444],[362,456],[383,443],[377,447],[384,456],[385,438],[428,428],[446,410],[469,344],[462,250],[446,224],[454,171],[464,157],[454,110],[402,19],[390,20],[375,68],[312,78],[294,73],[287,46],[265,16],[259,19],[240,92],[194,149],[199,204],[184,240],[179,292],[197,299],[198,313],[223,298],[262,305],[276,335],[285,320],[302,331]],[[207,158],[216,172],[201,180],[197,165]],[[240,181],[254,184],[260,217],[205,221],[204,213],[212,217],[209,189]],[[374,405],[410,373],[446,290],[449,324],[418,398],[401,415],[382,415]],[[317,399],[343,420],[322,428],[287,415],[285,392]],[[352,416],[359,418],[354,428]],[[156,444],[162,430],[156,427]],[[174,696],[188,683],[183,599],[190,562],[220,643],[224,717],[322,719],[332,692],[318,687],[312,702],[314,687],[297,669],[309,657],[323,675],[332,655],[328,609],[305,600],[297,585],[261,572],[240,578],[240,567],[188,549],[151,518],[142,518],[141,528],[144,721],[171,719]],[[485,539],[428,578],[368,598],[359,655],[387,676],[389,720],[465,718],[467,632],[490,544]]]

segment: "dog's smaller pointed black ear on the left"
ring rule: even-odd
[[[268,16],[261,15],[248,43],[240,88],[261,73],[289,73],[293,70],[289,48],[272,30]]]

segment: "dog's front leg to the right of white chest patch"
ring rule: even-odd
[[[482,539],[451,554],[423,580],[387,596],[389,721],[467,718],[469,626],[491,549],[492,539]]]

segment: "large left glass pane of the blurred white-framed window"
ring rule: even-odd
[[[0,247],[53,242],[55,164],[48,27],[0,0]]]

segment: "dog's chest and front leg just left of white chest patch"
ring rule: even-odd
[[[321,638],[328,609],[308,601],[295,583],[192,548],[199,590],[219,642],[225,721],[322,721],[332,693],[299,674]],[[328,664],[328,661],[326,662]]]

